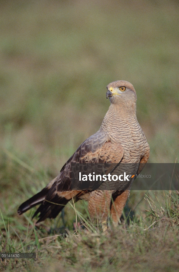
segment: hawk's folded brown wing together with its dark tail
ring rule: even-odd
[[[71,190],[71,164],[72,163],[118,163],[124,155],[121,144],[110,141],[103,130],[85,140],[64,164],[60,174],[51,181],[40,193],[24,202],[18,209],[21,214],[33,206],[42,203],[34,216],[39,212],[39,220],[55,218],[67,202],[80,192]],[[56,204],[53,204],[53,203]]]

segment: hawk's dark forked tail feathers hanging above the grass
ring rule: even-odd
[[[21,215],[30,208],[41,204],[33,215],[34,218],[40,212],[39,219],[36,223],[44,221],[46,218],[55,218],[70,199],[60,197],[56,194],[50,199],[47,197],[49,200],[46,200],[45,198],[48,193],[49,189],[45,187],[43,190],[41,190],[41,192],[22,203],[18,208],[18,214]]]

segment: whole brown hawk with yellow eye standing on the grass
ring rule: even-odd
[[[60,174],[41,192],[25,201],[18,214],[40,204],[37,221],[55,218],[72,198],[88,201],[90,217],[106,222],[110,216],[117,225],[129,196],[128,190],[72,190],[72,163],[136,163],[138,172],[149,158],[149,145],[136,117],[137,96],[133,85],[124,80],[107,85],[110,106],[100,129],[85,140],[62,167]],[[58,205],[57,205],[58,204]],[[60,205],[59,205],[60,204]]]

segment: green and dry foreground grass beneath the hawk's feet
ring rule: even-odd
[[[122,224],[110,226],[108,234],[85,219],[72,203],[70,214],[75,210],[77,222],[83,224],[71,231],[58,229],[58,234],[49,228],[50,220],[35,227],[32,212],[20,224],[18,220],[6,228],[1,213],[1,252],[35,251],[37,257],[35,261],[6,259],[1,270],[32,271],[35,267],[41,271],[48,265],[49,271],[178,271],[179,195],[161,194],[155,199],[150,193],[145,195],[150,206],[145,219],[133,216],[127,224],[124,214]]]

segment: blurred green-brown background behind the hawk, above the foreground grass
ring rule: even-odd
[[[0,1],[1,207],[16,215],[99,129],[115,80],[135,87],[150,162],[175,162],[178,51],[178,1]]]

